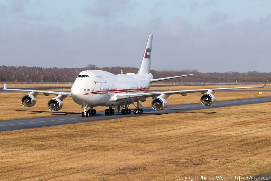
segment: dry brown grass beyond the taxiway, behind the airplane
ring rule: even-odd
[[[27,85],[27,84],[21,84]],[[18,87],[22,87],[18,84]],[[43,87],[43,85],[48,84],[28,84],[34,85],[34,87]],[[49,84],[49,87],[57,86],[59,84]],[[60,84],[67,85],[67,84]],[[13,85],[11,85],[13,87]],[[239,85],[240,86],[240,85]],[[238,87],[239,87],[238,86]],[[248,85],[250,86],[250,85]],[[259,85],[260,86],[260,85]],[[268,85],[269,86],[269,85]],[[266,86],[265,89],[269,90],[269,87]],[[189,89],[204,89],[210,88],[212,86],[183,86],[183,87],[151,87],[150,90],[189,90]],[[229,87],[229,85],[223,86],[214,86],[216,87]],[[233,86],[232,86],[233,87]],[[15,87],[16,88],[16,87]],[[31,88],[31,87],[30,87]],[[60,90],[64,91],[64,90]],[[261,90],[255,90],[252,92],[245,91],[234,91],[234,92],[222,92],[218,91],[215,93],[216,101],[219,100],[236,100],[236,99],[246,99],[246,98],[255,98],[255,97],[269,97],[271,96],[271,91],[266,91],[264,94],[259,94]],[[63,100],[63,108],[59,111],[53,112],[50,111],[47,107],[48,100],[54,98],[54,95],[44,96],[39,94],[37,96],[37,103],[33,107],[24,107],[21,104],[21,98],[28,93],[1,93],[1,102],[0,104],[0,121],[1,120],[10,120],[10,119],[24,119],[24,118],[34,118],[34,117],[45,117],[45,116],[59,116],[66,114],[76,114],[82,113],[83,108],[80,105],[73,102],[71,97],[67,97]],[[167,98],[168,105],[177,105],[177,104],[188,104],[188,103],[200,103],[201,93],[191,93],[183,97],[180,94],[171,95]],[[147,101],[141,102],[144,107],[151,107],[152,98],[147,98]],[[131,105],[131,109],[134,109],[134,106]],[[97,112],[104,111],[105,107],[95,107]]]

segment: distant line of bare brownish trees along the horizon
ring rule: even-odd
[[[26,66],[0,66],[0,82],[4,81],[25,81],[25,82],[73,82],[77,75],[84,70],[104,70],[113,74],[120,74],[123,70],[126,73],[137,73],[135,67],[103,67],[88,65],[84,68],[42,68]],[[180,71],[156,71],[151,70],[154,78],[173,77],[178,75],[195,74],[188,77],[171,79],[168,81],[178,82],[265,82],[271,80],[271,72],[249,71],[247,73],[239,72],[213,72],[202,73],[198,70],[180,70]]]

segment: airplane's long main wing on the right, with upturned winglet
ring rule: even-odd
[[[264,88],[268,81],[262,87],[232,87],[232,88],[215,88],[215,89],[195,89],[195,90],[173,90],[173,91],[162,91],[162,92],[147,92],[147,93],[136,93],[136,94],[118,94],[117,101],[129,101],[129,100],[137,100],[148,97],[158,97],[161,94],[172,95],[172,94],[187,94],[187,93],[195,93],[201,92],[201,94],[207,93],[208,90],[212,90],[215,92],[216,90],[234,90],[234,89],[249,89],[249,88]]]

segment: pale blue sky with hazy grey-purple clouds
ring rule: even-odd
[[[0,65],[271,72],[269,0],[0,0]]]

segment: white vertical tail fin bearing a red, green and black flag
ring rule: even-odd
[[[151,46],[152,46],[152,36],[149,34],[147,45],[143,54],[141,65],[137,74],[149,74],[151,69]]]

